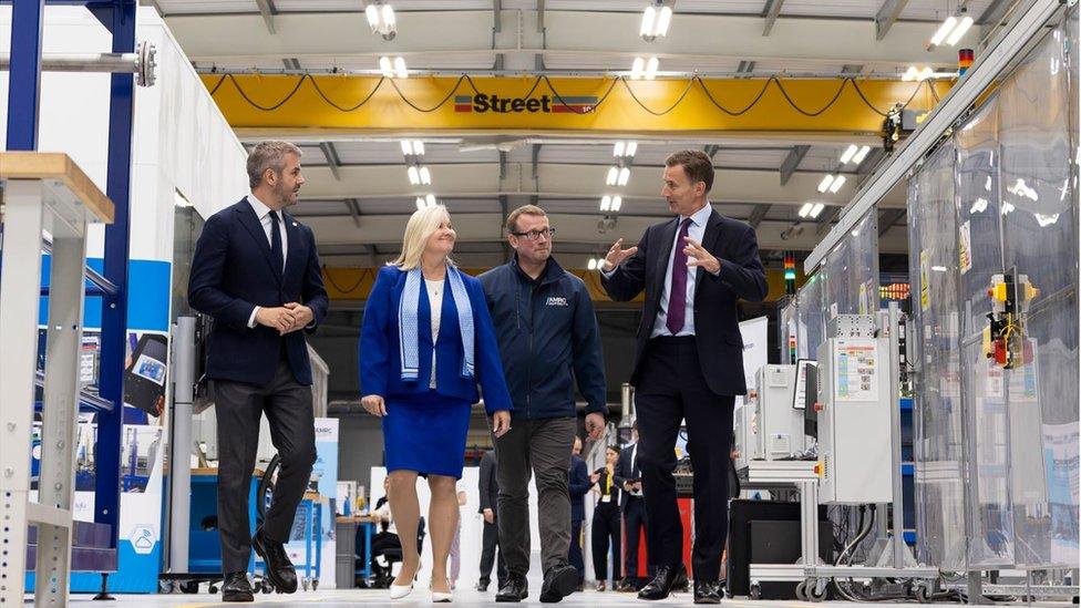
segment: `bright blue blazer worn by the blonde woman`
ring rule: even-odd
[[[416,322],[420,328],[418,380],[403,381],[401,374],[401,347],[399,346],[398,307],[405,289],[405,272],[397,266],[385,266],[375,277],[368,303],[364,306],[363,327],[360,332],[360,392],[378,394],[388,401],[410,399],[428,393],[432,377],[432,349],[435,349],[435,391],[442,395],[470,403],[480,401],[477,385],[484,391],[484,409],[488,414],[512,410],[511,394],[503,378],[500,347],[495,342],[492,317],[484,300],[481,282],[462,274],[465,291],[473,309],[473,378],[462,377],[462,332],[457,323],[457,307],[450,290],[443,295],[439,339],[432,344],[432,308],[428,290],[420,290]]]

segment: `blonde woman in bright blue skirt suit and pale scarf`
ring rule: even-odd
[[[375,278],[360,336],[361,403],[383,419],[398,529],[416,529],[416,476],[426,476],[431,488],[433,601],[451,600],[446,559],[457,527],[454,484],[465,464],[477,387],[496,436],[509,429],[512,409],[484,292],[450,259],[454,238],[442,205],[410,217],[401,256]],[[412,591],[420,566],[415,536],[400,537],[403,561],[392,599]]]

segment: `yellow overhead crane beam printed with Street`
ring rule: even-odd
[[[897,104],[930,110],[951,82],[203,74],[235,128],[380,133],[644,136],[739,133],[877,135]]]

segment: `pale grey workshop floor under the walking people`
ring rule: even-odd
[[[531,588],[531,591],[533,589]],[[181,607],[203,607],[203,606],[236,606],[235,604],[222,604],[220,596],[210,596],[209,594],[200,595],[143,595],[143,596],[117,596],[116,602],[99,602],[92,601],[91,596],[75,596],[72,598],[72,605],[82,605],[85,608],[91,608],[92,606],[103,606],[105,608],[110,606],[138,606],[146,608],[154,607],[168,607],[168,608],[181,608]],[[256,604],[276,606],[276,607],[308,607],[318,606],[325,608],[337,608],[344,606],[429,606],[431,602],[431,595],[428,589],[418,588],[405,599],[392,601],[388,595],[387,590],[334,590],[334,589],[320,589],[318,591],[298,591],[296,595],[285,596],[285,595],[258,595],[256,596]],[[526,605],[539,605],[539,600],[536,599],[535,592],[527,599]],[[495,595],[492,591],[481,594],[475,590],[457,590],[454,594],[454,605],[456,606],[469,606],[469,607],[480,607],[480,606],[501,606],[505,607],[506,604],[495,604]],[[632,594],[614,594],[604,592],[599,594],[596,591],[586,591],[581,594],[574,594],[560,602],[560,606],[575,606],[575,607],[606,607],[606,606],[627,606],[627,607],[638,607],[645,608],[648,606],[693,606],[692,597],[690,594],[676,594],[663,601],[659,602],[647,602],[640,601],[635,598]],[[807,604],[802,601],[751,601],[748,599],[727,599],[722,602],[723,606],[729,606],[731,608],[780,608],[780,607],[793,607],[793,608],[813,608],[813,607],[824,607],[824,606],[844,606],[850,608],[855,608],[856,606],[875,606],[876,608],[890,608],[898,606],[897,604],[886,604],[876,602],[874,605],[856,605],[852,602],[824,602],[824,604]],[[547,605],[546,605],[547,606]],[[919,606],[916,602],[910,602],[908,607]],[[941,606],[960,606],[958,604],[941,605]],[[1018,604],[1017,606],[1027,606],[1026,604]],[[1040,602],[1032,604],[1031,606],[1039,607],[1062,607],[1070,606],[1070,604],[1051,604],[1051,602]]]

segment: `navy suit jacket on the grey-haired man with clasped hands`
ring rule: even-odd
[[[300,384],[311,384],[302,332],[280,337],[268,327],[248,328],[256,306],[300,302],[311,308],[316,326],[327,316],[327,290],[316,238],[311,228],[289,214],[282,216],[288,238],[284,276],[271,261],[267,234],[247,198],[214,214],[203,227],[192,260],[187,297],[192,308],[214,318],[206,361],[212,380],[270,383],[285,340],[294,378]]]

